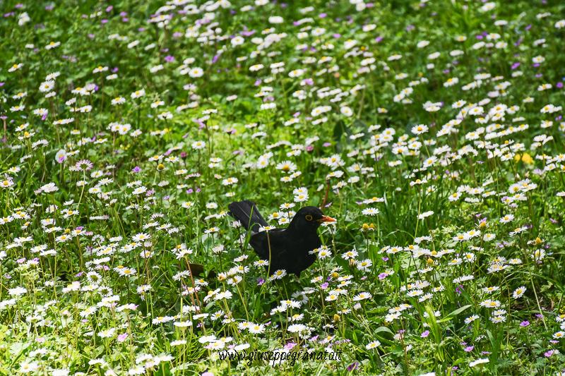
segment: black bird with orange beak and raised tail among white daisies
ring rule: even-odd
[[[335,222],[315,206],[302,207],[286,229],[270,230],[267,238],[266,231],[259,232],[261,227],[268,226],[267,221],[253,202],[232,202],[227,208],[230,210],[228,214],[251,231],[249,244],[261,260],[269,261],[270,274],[285,269],[288,274],[300,277],[300,272],[316,261],[316,255],[309,252],[322,245],[316,230],[323,222]]]

